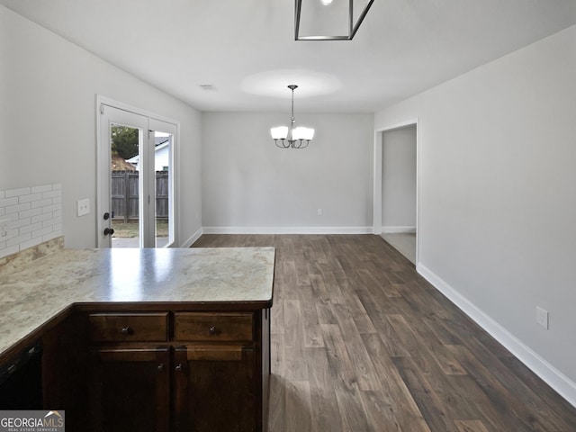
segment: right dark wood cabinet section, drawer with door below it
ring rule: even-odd
[[[175,432],[257,429],[254,312],[177,312]]]

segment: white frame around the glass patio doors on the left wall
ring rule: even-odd
[[[172,162],[172,170],[171,173],[171,184],[170,187],[173,191],[173,202],[171,203],[172,206],[172,214],[173,214],[173,226],[174,226],[174,238],[171,243],[168,243],[166,247],[174,247],[175,244],[178,242],[178,235],[180,232],[180,193],[179,193],[179,184],[180,184],[180,164],[178,161],[178,153],[179,153],[179,146],[180,146],[180,121],[175,121],[174,119],[170,119],[166,116],[157,114],[155,112],[149,112],[147,110],[143,110],[141,108],[132,106],[128,103],[122,103],[111,99],[109,97],[103,96],[102,94],[95,95],[95,116],[96,116],[96,247],[106,247],[103,244],[103,236],[101,233],[104,229],[104,220],[102,218],[103,211],[107,210],[103,208],[103,198],[100,196],[100,184],[101,184],[101,177],[104,175],[102,172],[102,166],[106,166],[110,164],[108,157],[109,155],[104,154],[103,146],[101,146],[101,139],[102,139],[102,114],[101,114],[101,106],[110,106],[117,110],[131,112],[133,114],[147,117],[148,118],[148,130],[150,129],[150,125],[154,125],[155,121],[161,121],[165,123],[169,123],[175,127],[175,135],[173,137],[172,142],[172,155],[171,155],[171,162]],[[148,132],[147,130],[147,132]],[[148,142],[148,133],[144,134],[143,141]],[[150,181],[151,183],[151,181]]]

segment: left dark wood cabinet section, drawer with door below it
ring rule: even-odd
[[[169,432],[168,312],[88,314],[94,432]]]

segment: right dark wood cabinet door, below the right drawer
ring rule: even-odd
[[[254,358],[251,347],[175,348],[175,430],[256,430]]]

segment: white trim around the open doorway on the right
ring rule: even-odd
[[[416,126],[416,266],[419,265],[419,237],[420,237],[420,127],[419,118],[401,121],[383,128],[374,129],[374,208],[373,232],[381,236],[383,233],[382,226],[382,204],[383,204],[383,135],[389,130],[405,128],[406,126]]]

